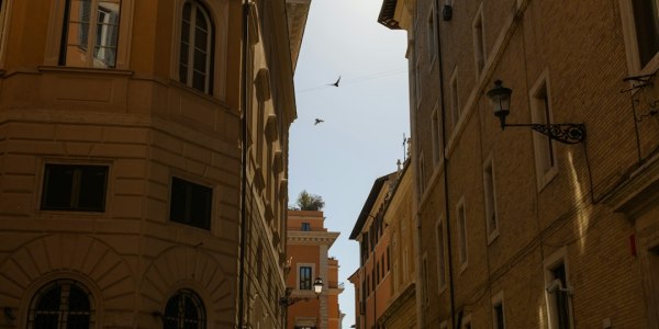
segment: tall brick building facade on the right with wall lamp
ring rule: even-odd
[[[382,2],[409,35],[418,328],[659,327],[657,8]],[[503,128],[496,80],[507,124],[584,140]]]

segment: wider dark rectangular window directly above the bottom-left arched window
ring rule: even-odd
[[[107,166],[48,163],[44,172],[44,211],[104,212]]]

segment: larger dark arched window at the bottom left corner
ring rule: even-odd
[[[88,329],[93,325],[91,302],[89,291],[77,281],[51,282],[32,298],[27,328]]]

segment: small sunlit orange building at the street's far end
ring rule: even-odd
[[[292,304],[287,308],[286,328],[340,329],[338,295],[344,285],[338,282],[338,260],[328,256],[339,232],[327,231],[323,212],[288,211],[288,219],[286,286]],[[320,295],[314,294],[316,277],[323,282]]]

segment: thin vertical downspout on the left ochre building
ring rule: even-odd
[[[249,42],[249,0],[243,0],[243,65],[241,67],[241,227],[239,227],[239,262],[238,262],[238,329],[245,328],[245,248],[247,248],[247,44]]]

